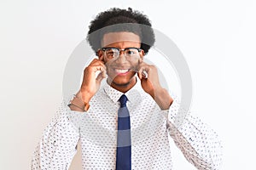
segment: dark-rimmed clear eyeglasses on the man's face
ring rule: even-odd
[[[101,50],[104,52],[104,55],[107,59],[117,59],[119,58],[121,51],[124,51],[125,59],[130,60],[139,59],[140,52],[143,51],[141,48],[101,48]]]

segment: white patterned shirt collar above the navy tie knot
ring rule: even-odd
[[[136,78],[137,78],[136,84],[129,91],[125,93],[128,101],[130,101],[131,103],[134,103],[138,98],[142,98],[141,93],[144,92],[141,87],[141,82],[139,78],[138,77]],[[121,95],[124,94],[118,91],[117,89],[112,88],[108,83],[105,84],[103,89],[105,93],[108,95],[108,97],[113,100],[114,103],[118,102]]]

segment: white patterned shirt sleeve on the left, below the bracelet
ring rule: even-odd
[[[80,116],[81,112],[71,111],[63,99],[33,153],[32,170],[68,169],[77,152]]]

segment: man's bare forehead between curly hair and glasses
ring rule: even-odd
[[[102,37],[102,47],[108,47],[112,44],[130,44],[137,47],[141,44],[140,37],[132,32],[108,32]]]

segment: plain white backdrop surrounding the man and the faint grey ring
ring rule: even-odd
[[[0,169],[29,169],[61,103],[67,59],[90,20],[137,8],[170,37],[193,78],[192,111],[224,142],[224,170],[252,169],[255,153],[256,4],[250,0],[0,2]],[[172,145],[174,169],[195,169]],[[72,167],[79,169],[79,155]]]

